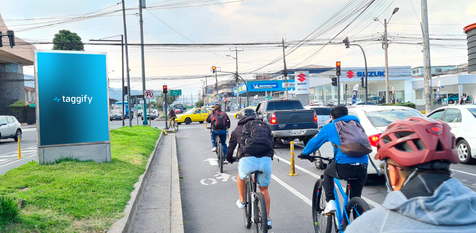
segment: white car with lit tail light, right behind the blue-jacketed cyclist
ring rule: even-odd
[[[360,120],[360,125],[364,128],[368,140],[372,145],[372,152],[368,155],[370,159],[374,162],[379,169],[379,165],[383,161],[375,160],[375,154],[377,154],[377,143],[380,139],[380,135],[387,129],[387,126],[396,120],[403,120],[407,117],[424,117],[417,110],[410,107],[401,107],[401,106],[364,106],[350,108],[350,116],[355,116]],[[321,155],[321,156],[334,156],[332,155]],[[322,164],[321,164],[322,163]],[[323,161],[316,161],[316,167],[324,169],[326,164]],[[382,171],[380,171],[382,172]],[[377,174],[375,168],[368,163],[367,174]]]

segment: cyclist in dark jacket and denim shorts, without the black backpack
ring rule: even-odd
[[[235,157],[233,152],[238,144],[238,136],[242,135],[243,126],[248,122],[256,119],[256,112],[253,108],[245,108],[241,111],[239,116],[238,126],[231,132],[230,140],[228,141],[227,160],[233,164]],[[266,124],[266,123],[265,123]],[[271,198],[269,196],[268,185],[271,181],[271,157],[273,157],[273,151],[266,154],[254,155],[245,153],[242,146],[238,146],[238,156],[240,161],[238,163],[238,193],[239,199],[237,201],[238,208],[245,208],[245,187],[246,177],[254,171],[261,171],[262,174],[257,175],[257,181],[259,190],[263,194],[266,202],[266,212],[268,213],[268,227],[271,226],[271,218],[269,218],[269,206],[271,204]]]

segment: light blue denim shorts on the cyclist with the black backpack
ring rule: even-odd
[[[262,174],[256,174],[256,180],[259,186],[266,187],[271,181],[271,172],[273,167],[271,165],[271,157],[243,157],[238,162],[239,178],[245,180],[248,175],[254,171],[261,171]]]

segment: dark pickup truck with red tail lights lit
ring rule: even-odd
[[[265,99],[256,107],[256,115],[268,123],[275,142],[298,138],[307,145],[318,132],[316,112],[304,109],[299,99]]]

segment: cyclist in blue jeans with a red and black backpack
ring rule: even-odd
[[[221,146],[223,149],[223,155],[227,154],[227,129],[230,127],[230,118],[221,110],[219,104],[215,105],[213,110],[207,116],[207,122],[211,123],[211,144],[212,152],[217,151],[216,137],[220,136]],[[228,164],[228,161],[223,161],[223,164]]]

